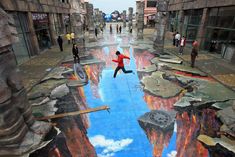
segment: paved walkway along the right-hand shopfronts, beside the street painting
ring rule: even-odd
[[[184,54],[179,55],[178,48],[174,47],[171,41],[166,41],[165,49],[190,64],[191,47],[185,47]],[[196,59],[196,68],[207,73],[230,89],[235,90],[235,65],[222,59],[219,54],[210,54],[205,51],[200,51]]]

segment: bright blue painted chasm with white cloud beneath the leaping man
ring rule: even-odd
[[[90,107],[108,105],[111,108],[110,113],[102,111],[89,115],[88,136],[99,157],[152,156],[152,146],[137,121],[149,109],[143,100],[143,91],[137,88],[140,80],[132,49],[130,58],[125,68],[134,70],[135,74],[121,72],[114,79],[111,67],[103,69],[98,86],[100,98],[92,95],[90,84],[84,87]]]

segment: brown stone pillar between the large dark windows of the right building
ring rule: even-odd
[[[201,18],[201,24],[200,27],[198,29],[198,33],[197,33],[197,41],[199,43],[199,46],[201,48],[201,46],[203,45],[204,41],[205,41],[205,33],[206,33],[206,21],[208,19],[208,8],[204,8],[203,9],[203,13],[202,13],[202,18]]]

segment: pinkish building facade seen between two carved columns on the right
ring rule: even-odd
[[[156,0],[144,0],[144,25],[154,27],[155,25],[155,14],[157,13],[156,9]]]

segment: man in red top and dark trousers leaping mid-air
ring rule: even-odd
[[[121,54],[119,51],[116,52],[116,55],[118,56],[118,59],[117,60],[112,60],[113,62],[116,62],[118,63],[118,66],[117,68],[115,69],[115,72],[114,72],[114,75],[113,77],[115,78],[116,75],[117,75],[117,72],[122,69],[122,71],[124,73],[132,73],[133,71],[132,70],[126,70],[125,67],[124,67],[124,63],[123,63],[123,59],[130,59],[129,57],[127,56],[124,56],[123,54]]]

